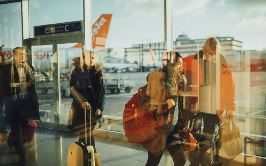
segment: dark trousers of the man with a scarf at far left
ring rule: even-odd
[[[28,109],[28,99],[19,99],[18,101],[5,101],[5,114],[7,124],[11,125],[12,135],[9,135],[9,140],[15,148],[15,152],[20,158],[26,156],[27,152],[24,148],[23,138],[28,119],[20,116],[20,111]]]

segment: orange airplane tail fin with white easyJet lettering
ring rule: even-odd
[[[92,48],[105,47],[112,14],[102,14],[92,25]]]

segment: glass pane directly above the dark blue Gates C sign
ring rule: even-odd
[[[29,4],[30,38],[34,37],[34,26],[83,20],[82,0],[29,1]],[[75,10],[74,12],[73,6]]]

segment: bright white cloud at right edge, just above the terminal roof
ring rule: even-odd
[[[266,29],[266,17],[260,16],[252,19],[243,19],[235,24],[234,30],[265,30]]]

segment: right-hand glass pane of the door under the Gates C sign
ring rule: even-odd
[[[60,123],[67,124],[68,112],[72,104],[73,98],[71,98],[69,92],[69,78],[70,73],[75,68],[73,65],[73,58],[80,56],[81,54],[81,43],[64,43],[58,44],[58,56],[59,62],[59,73],[61,82],[61,109],[60,109]]]

